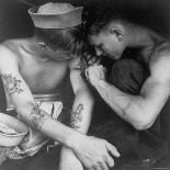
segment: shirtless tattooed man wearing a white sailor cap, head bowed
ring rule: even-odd
[[[8,107],[13,105],[20,120],[32,128],[29,139],[20,147],[23,150],[36,148],[44,143],[43,134],[63,145],[61,170],[81,170],[82,166],[104,170],[113,167],[111,155],[120,156],[116,148],[104,139],[84,135],[91,122],[93,99],[80,76],[82,7],[47,3],[29,12],[35,24],[35,36],[10,39],[0,45],[0,73]],[[60,89],[69,78],[75,93],[70,127],[50,116],[54,104],[50,113],[46,113],[39,104],[45,98],[60,100]],[[42,159],[39,167],[34,167],[39,159],[33,158],[21,166],[11,163],[11,168],[56,169],[53,163],[50,167],[46,165],[52,155]],[[4,162],[3,168],[8,169],[8,163]]]

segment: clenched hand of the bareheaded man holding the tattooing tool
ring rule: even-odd
[[[98,81],[105,80],[106,68],[102,65],[91,66],[86,69],[86,77],[92,86],[95,86]]]

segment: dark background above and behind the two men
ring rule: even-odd
[[[31,7],[22,0],[0,0],[0,42],[7,38],[30,36],[33,23],[27,14]],[[88,5],[89,2],[110,3],[128,9],[128,13],[140,24],[166,37],[170,37],[170,0],[26,0],[32,4],[46,2],[71,2]]]

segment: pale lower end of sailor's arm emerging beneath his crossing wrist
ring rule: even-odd
[[[83,167],[71,149],[63,147],[59,170],[83,170]]]

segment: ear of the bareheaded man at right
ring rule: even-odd
[[[110,27],[110,33],[114,34],[118,42],[122,42],[124,38],[124,29],[121,25]]]

